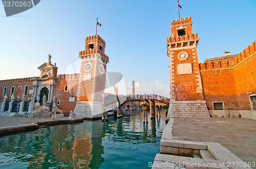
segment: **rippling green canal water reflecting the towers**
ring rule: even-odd
[[[161,117],[131,116],[61,124],[0,137],[0,168],[149,168],[160,152]]]

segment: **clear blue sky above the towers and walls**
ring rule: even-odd
[[[180,0],[181,17],[193,21],[200,38],[199,62],[238,54],[256,39],[256,1]],[[0,79],[39,76],[48,61],[58,74],[78,61],[84,40],[98,34],[105,40],[110,58],[108,72],[120,72],[126,84],[169,85],[166,37],[170,20],[178,19],[176,0],[169,1],[67,1],[42,0],[23,13],[6,17],[0,5]],[[130,85],[131,86],[131,85]],[[140,86],[141,87],[141,86]],[[128,91],[130,89],[127,89]]]

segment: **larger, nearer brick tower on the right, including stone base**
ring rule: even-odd
[[[170,21],[167,55],[170,63],[170,117],[209,117],[203,98],[197,58],[198,34],[191,17]]]

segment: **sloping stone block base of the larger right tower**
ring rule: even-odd
[[[168,115],[170,118],[210,118],[206,101],[170,101]]]

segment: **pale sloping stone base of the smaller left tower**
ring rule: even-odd
[[[78,118],[100,119],[102,116],[101,102],[77,101],[74,113]]]

